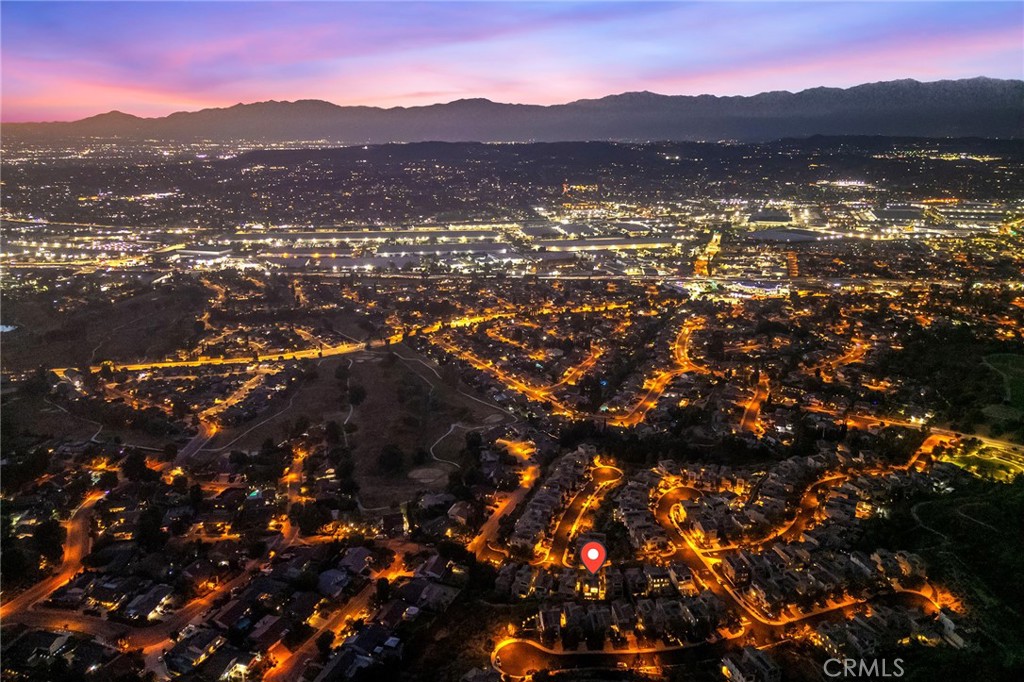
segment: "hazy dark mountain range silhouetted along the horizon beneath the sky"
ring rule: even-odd
[[[269,99],[143,118],[120,111],[71,122],[5,123],[14,138],[168,140],[759,141],[815,134],[920,137],[1024,136],[1024,81],[973,78],[865,83],[756,95],[623,92],[564,104],[482,97],[416,106],[340,105]]]

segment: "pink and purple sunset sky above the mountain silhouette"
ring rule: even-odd
[[[1021,2],[7,2],[4,121],[1024,78]]]

